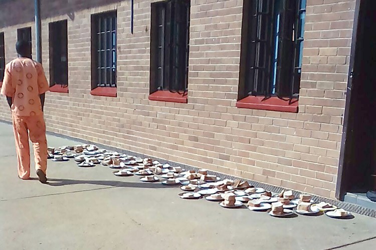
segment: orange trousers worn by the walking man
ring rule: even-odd
[[[47,170],[46,123],[43,114],[18,116],[13,114],[13,129],[16,139],[18,174],[22,179],[30,178],[29,136],[33,142],[36,170]]]

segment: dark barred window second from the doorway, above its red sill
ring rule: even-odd
[[[186,92],[190,0],[151,3],[150,92]]]

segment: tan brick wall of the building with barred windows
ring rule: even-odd
[[[135,0],[134,34],[129,31],[129,1],[81,6],[73,20],[65,13],[46,17],[42,46],[47,74],[48,23],[68,18],[69,40],[69,94],[48,94],[48,129],[334,197],[354,4],[307,0],[299,113],[235,106],[243,0],[191,1],[187,104],[148,100],[149,0]],[[90,14],[116,8],[117,97],[92,96]],[[0,28],[7,61],[15,56],[16,29],[22,26]],[[8,110],[4,100],[0,108]],[[10,120],[10,113],[2,111],[0,119]]]

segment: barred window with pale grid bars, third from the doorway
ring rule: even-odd
[[[116,91],[116,19],[116,11],[92,15],[92,89]]]

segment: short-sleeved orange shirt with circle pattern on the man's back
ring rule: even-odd
[[[30,58],[17,58],[5,67],[1,93],[12,97],[12,112],[19,116],[42,114],[39,95],[49,90],[42,64]]]

